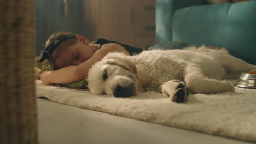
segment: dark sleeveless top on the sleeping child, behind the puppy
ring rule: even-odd
[[[121,44],[121,43],[118,43],[116,41],[110,41],[110,40],[106,40],[106,39],[98,39],[94,44],[101,44],[100,45],[100,49],[101,49],[102,45],[109,44],[109,43],[117,43],[117,44],[123,46],[130,53],[131,56],[132,55],[136,55],[138,53],[141,53],[143,51],[143,49],[141,49],[141,48],[137,48],[137,47],[133,47],[133,46],[130,46],[130,45]]]

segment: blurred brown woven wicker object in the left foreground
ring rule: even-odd
[[[0,2],[0,143],[37,143],[33,0]]]

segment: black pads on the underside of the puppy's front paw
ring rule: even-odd
[[[188,99],[188,95],[189,95],[188,88],[183,83],[180,83],[176,87],[176,91],[172,96],[171,100],[176,103],[183,103]]]

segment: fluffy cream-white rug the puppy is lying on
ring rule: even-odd
[[[147,122],[256,142],[256,90],[194,94],[187,103],[173,103],[162,94],[144,92],[131,98],[92,95],[89,91],[44,86],[36,81],[37,97]]]

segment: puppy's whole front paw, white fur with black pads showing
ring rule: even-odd
[[[182,103],[188,99],[188,89],[185,83],[179,80],[170,80],[162,85],[162,93],[176,103]]]

